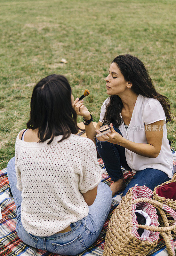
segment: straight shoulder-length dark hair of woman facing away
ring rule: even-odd
[[[38,129],[39,142],[63,135],[58,142],[78,132],[76,111],[72,107],[71,87],[65,76],[50,75],[34,87],[30,102],[29,129]]]

